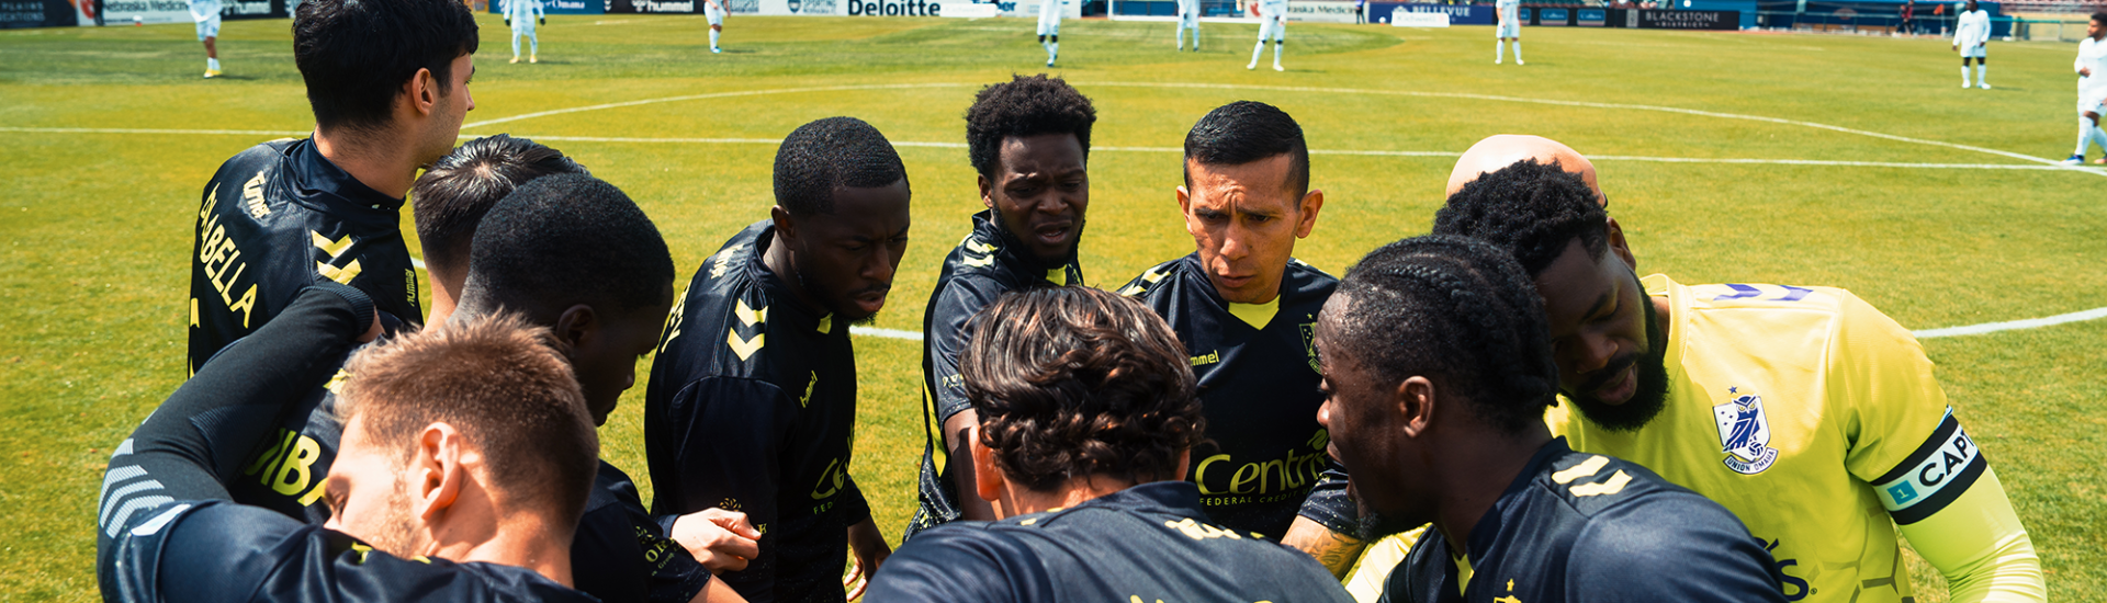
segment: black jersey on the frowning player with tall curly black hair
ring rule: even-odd
[[[1003,228],[992,209],[973,215],[973,232],[944,255],[944,272],[929,291],[923,310],[923,460],[921,506],[902,538],[959,519],[959,491],[952,485],[944,443],[944,422],[971,409],[965,384],[959,382],[959,352],[973,339],[965,320],[1003,293],[1028,287],[1083,285],[1083,266],[1075,251],[1064,261],[1043,261]],[[971,493],[967,493],[971,495]]]

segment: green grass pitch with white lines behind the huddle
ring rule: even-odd
[[[485,15],[464,137],[535,137],[624,188],[685,283],[765,217],[769,141],[822,116],[864,118],[900,145],[917,192],[914,242],[877,327],[914,331],[938,261],[980,209],[961,114],[978,86],[1041,72],[1030,27],[750,17],[710,55],[700,17],[550,17],[541,63],[508,65],[506,30]],[[1643,272],[1848,287],[1911,329],[2107,306],[2107,173],[2010,169],[2067,156],[2073,44],[1993,44],[1997,89],[1960,91],[1945,40],[1538,27],[1528,67],[1494,67],[1488,27],[1294,25],[1289,72],[1275,74],[1243,70],[1254,25],[1205,25],[1197,55],[1171,51],[1169,23],[1066,30],[1054,72],[1100,112],[1089,285],[1190,251],[1167,150],[1209,108],[1258,99],[1294,114],[1317,150],[1327,205],[1298,255],[1334,274],[1426,232],[1454,152],[1536,133],[1597,156]],[[110,447],[183,380],[200,188],[234,152],[312,129],[289,21],[228,21],[219,46],[228,78],[198,80],[190,25],[0,32],[4,601],[97,599]],[[609,103],[628,105],[596,108]],[[2107,592],[2103,339],[2107,323],[1926,339],[2033,533],[2052,601]],[[898,540],[923,439],[921,346],[858,346],[853,470]],[[607,458],[638,479],[641,392],[603,430]],[[1941,588],[1915,569],[1919,590]]]

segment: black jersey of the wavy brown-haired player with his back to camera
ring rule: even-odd
[[[885,561],[866,599],[1353,601],[1317,559],[1209,523],[1199,489],[1182,481],[927,529]]]

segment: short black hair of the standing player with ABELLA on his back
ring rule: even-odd
[[[453,59],[476,53],[476,15],[459,0],[306,0],[293,11],[293,63],[316,127],[388,124],[417,70],[453,93]]]

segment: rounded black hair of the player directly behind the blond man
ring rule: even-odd
[[[483,217],[461,297],[535,312],[605,302],[630,312],[666,304],[670,285],[672,253],[651,217],[611,183],[560,173],[523,183]]]

